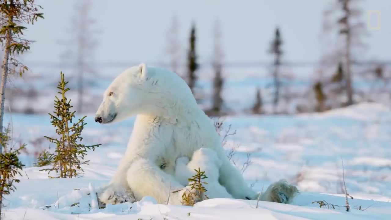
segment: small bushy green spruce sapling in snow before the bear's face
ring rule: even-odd
[[[56,96],[54,101],[55,111],[53,114],[50,114],[51,123],[56,128],[57,138],[45,136],[48,141],[56,144],[56,151],[52,155],[47,155],[53,159],[53,167],[50,169],[43,169],[48,171],[50,174],[51,171],[59,173],[58,177],[50,178],[73,178],[77,175],[83,173],[82,164],[88,164],[88,160],[84,160],[84,156],[87,155],[87,150],[95,150],[96,147],[101,144],[94,144],[86,146],[80,144],[79,142],[83,140],[81,137],[81,132],[83,131],[84,126],[87,123],[84,123],[84,119],[87,116],[84,116],[81,119],[78,119],[77,123],[74,123],[72,120],[75,117],[75,111],[71,111],[72,105],[70,104],[71,100],[68,101],[65,94],[70,89],[66,88],[68,81],[65,81],[64,74],[61,72],[61,80],[58,82],[57,88],[59,89],[58,94],[61,95],[61,99]]]

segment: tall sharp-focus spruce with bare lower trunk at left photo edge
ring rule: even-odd
[[[34,21],[38,20],[38,18],[43,18],[43,14],[38,11],[39,9],[41,9],[41,6],[34,4],[34,0],[2,0],[0,2],[0,17],[2,21],[0,27],[0,43],[4,51],[0,85],[0,156],[2,162],[5,160],[9,161],[2,164],[3,167],[0,173],[0,182],[2,183],[8,181],[8,178],[12,179],[16,175],[13,172],[14,169],[22,168],[18,160],[18,151],[10,152],[4,150],[5,152],[2,152],[3,148],[5,148],[4,138],[7,137],[3,133],[5,87],[9,74],[18,72],[22,76],[28,70],[14,55],[23,54],[23,52],[30,49],[29,45],[31,41],[23,38],[24,31],[27,29],[24,25],[29,23],[34,24]],[[8,171],[14,174],[7,176]],[[11,181],[11,186],[12,182],[17,181]],[[12,191],[12,187],[10,189]],[[0,191],[0,220],[2,216],[3,193],[8,194],[9,190]]]

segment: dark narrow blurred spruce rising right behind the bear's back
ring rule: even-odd
[[[195,52],[195,24],[192,24],[192,28],[190,31],[190,38],[189,38],[189,50],[187,53],[187,77],[188,77],[188,86],[192,90],[194,94],[194,86],[195,81],[197,80],[197,76],[195,75],[195,71],[198,69],[198,63],[197,63],[197,53]]]

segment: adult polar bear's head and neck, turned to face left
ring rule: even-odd
[[[118,122],[137,114],[172,118],[180,105],[197,105],[185,81],[169,70],[142,63],[126,69],[109,85],[95,121]]]

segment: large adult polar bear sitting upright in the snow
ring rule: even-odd
[[[222,162],[219,183],[231,197],[258,198],[259,194],[249,188],[228,160],[212,121],[177,74],[142,63],[117,76],[103,94],[95,121],[116,123],[135,115],[127,150],[99,196],[102,202],[134,202],[152,196],[159,203],[180,205],[181,195],[187,189],[174,177],[176,159],[192,158],[200,148],[216,152]],[[271,191],[261,200],[287,203],[297,189],[286,182],[276,182]]]

